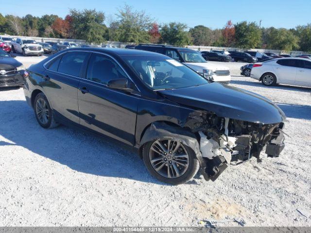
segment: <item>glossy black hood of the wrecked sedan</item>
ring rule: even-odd
[[[158,91],[169,100],[214,112],[217,116],[263,124],[286,119],[273,102],[253,92],[220,83]]]

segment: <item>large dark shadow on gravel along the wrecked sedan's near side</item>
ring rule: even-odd
[[[20,146],[78,172],[170,185],[153,178],[138,154],[115,140],[62,125],[43,129],[26,101],[0,101],[0,135],[14,143],[0,140],[0,148]]]

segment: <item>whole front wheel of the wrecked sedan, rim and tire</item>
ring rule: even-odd
[[[143,161],[159,181],[181,184],[190,181],[199,170],[194,151],[181,141],[154,140],[143,145]]]

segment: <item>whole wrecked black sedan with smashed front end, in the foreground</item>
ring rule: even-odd
[[[286,117],[274,103],[162,54],[72,48],[27,71],[25,97],[43,128],[63,123],[116,139],[163,182],[188,182],[200,167],[215,180],[263,148],[271,157],[284,148]]]

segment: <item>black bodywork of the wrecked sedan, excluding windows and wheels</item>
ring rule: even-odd
[[[70,52],[86,54],[79,74],[70,76],[58,72],[58,69],[47,69]],[[122,68],[129,78],[130,92],[112,89],[85,78],[89,61],[95,53],[109,57]],[[24,85],[27,103],[34,107],[35,96],[43,92],[56,121],[117,139],[137,148],[140,153],[143,146],[141,142],[148,142],[161,135],[174,137],[185,132],[184,139],[190,137],[191,145],[196,145],[192,150],[207,180],[216,179],[229,162],[221,155],[212,159],[202,157],[198,146],[199,133],[205,133],[218,143],[224,138],[224,133],[228,140],[234,137],[239,143],[235,147],[232,145],[231,150],[239,150],[239,153],[232,156],[232,161],[244,161],[252,156],[259,159],[265,145],[269,146],[267,151],[270,156],[278,156],[283,149],[281,129],[285,115],[270,100],[252,92],[209,81],[204,85],[186,88],[152,90],[125,62],[126,55],[168,59],[167,56],[143,50],[63,50],[28,68],[29,76]],[[144,137],[145,132],[148,132],[148,136]],[[231,154],[231,151],[225,153]]]

